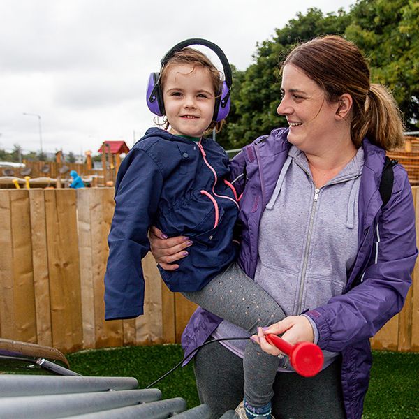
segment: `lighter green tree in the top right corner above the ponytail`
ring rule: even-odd
[[[372,82],[392,90],[408,129],[419,128],[419,2],[362,0],[346,36],[367,55]]]

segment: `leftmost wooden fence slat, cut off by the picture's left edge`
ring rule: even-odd
[[[0,336],[4,339],[13,339],[15,334],[10,193],[7,190],[0,191]]]

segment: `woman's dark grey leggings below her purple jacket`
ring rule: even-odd
[[[195,376],[201,403],[210,406],[211,419],[233,410],[243,398],[242,360],[215,342],[195,356]],[[272,414],[276,419],[345,419],[338,358],[311,378],[293,372],[275,377]]]

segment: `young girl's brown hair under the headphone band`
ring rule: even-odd
[[[222,73],[212,64],[211,60],[203,54],[203,52],[200,52],[198,50],[194,50],[193,48],[183,48],[182,50],[179,50],[175,52],[175,54],[170,57],[168,62],[163,66],[160,72],[160,86],[161,91],[163,91],[164,83],[166,82],[168,71],[170,70],[171,66],[177,66],[177,65],[189,65],[192,66],[194,69],[197,66],[207,68],[210,72],[210,77],[212,80],[212,86],[214,87],[214,94],[215,97],[219,97],[221,95],[221,89],[223,86],[223,79]],[[221,131],[221,128],[223,126],[224,119],[220,122],[212,121],[210,126],[205,131],[205,134],[207,135],[212,131],[213,128],[215,128],[216,132],[218,133]],[[169,122],[164,122],[164,128],[167,129],[169,126]]]

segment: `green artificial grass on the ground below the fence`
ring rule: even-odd
[[[85,376],[133,376],[145,388],[177,362],[179,345],[130,346],[68,354],[71,369]],[[419,418],[419,353],[374,351],[363,419]],[[188,408],[200,404],[191,363],[153,386],[163,399],[182,397]]]

